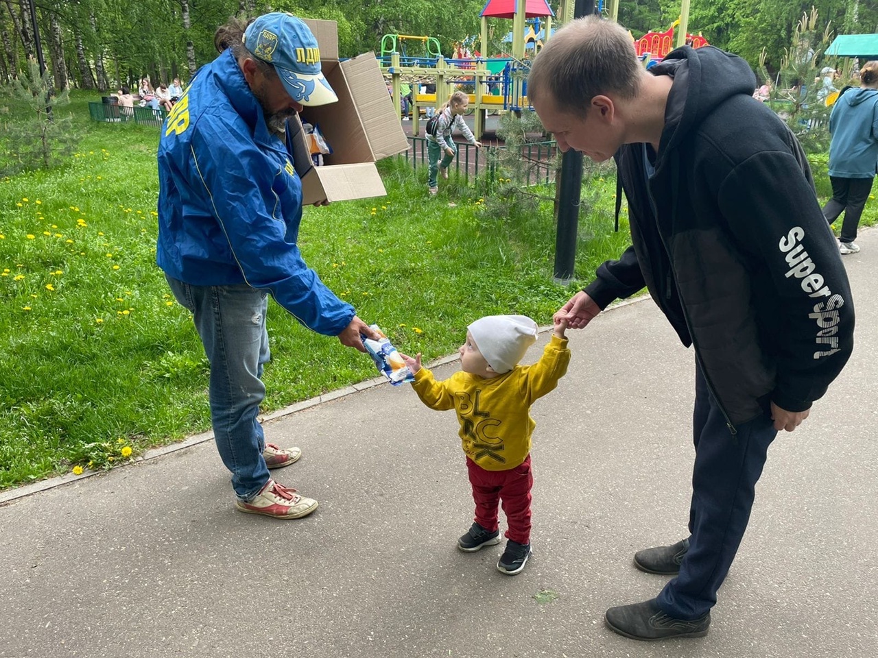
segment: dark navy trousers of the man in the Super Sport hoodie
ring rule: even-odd
[[[756,482],[777,435],[767,413],[736,429],[732,436],[696,366],[689,550],[680,575],[666,584],[658,599],[659,608],[676,619],[698,619],[716,604],[716,590],[744,538]]]

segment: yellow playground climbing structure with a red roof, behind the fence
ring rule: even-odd
[[[522,111],[529,107],[525,78],[529,70],[525,52],[528,44],[536,52],[543,34],[551,34],[554,12],[548,0],[487,0],[481,12],[479,37],[486,44],[487,18],[511,18],[511,53],[484,57],[474,47],[475,39],[465,39],[455,46],[455,55],[445,58],[439,42],[432,37],[385,34],[381,39],[379,65],[391,78],[394,106],[399,116],[400,85],[403,78],[414,81],[412,90],[412,130],[419,132],[421,108],[439,108],[455,89],[468,91],[470,108],[475,111],[474,133],[484,133],[488,111]],[[527,21],[530,20],[528,25]],[[515,38],[520,35],[520,38]],[[509,39],[510,37],[507,37]],[[407,46],[419,46],[419,54],[407,53]],[[435,82],[435,93],[420,93],[420,83]],[[400,116],[401,118],[401,116]]]

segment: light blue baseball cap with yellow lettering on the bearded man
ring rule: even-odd
[[[244,32],[244,47],[274,65],[284,89],[297,103],[313,106],[338,101],[320,70],[320,46],[303,20],[284,11],[263,14]]]

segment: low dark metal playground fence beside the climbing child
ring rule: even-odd
[[[412,168],[428,167],[429,158],[427,152],[427,138],[409,136],[411,147],[406,152],[406,161],[411,162]],[[493,178],[497,175],[497,157],[493,151],[506,149],[506,147],[482,147],[476,148],[471,144],[457,143],[457,154],[450,168],[457,172],[469,183],[470,177],[488,176]],[[553,161],[558,154],[558,144],[554,139],[549,141],[537,141],[522,146],[521,158],[530,163],[527,174],[527,184],[555,182]]]

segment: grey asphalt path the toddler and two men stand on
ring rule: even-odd
[[[686,532],[693,354],[645,300],[571,332],[570,371],[534,408],[519,576],[495,568],[502,544],[456,548],[472,502],[454,413],[372,380],[265,420],[304,451],[275,475],[320,500],[306,519],[235,511],[209,434],[0,494],[0,656],[878,655],[878,231],[858,242],[853,357],[770,449],[706,638],[637,642],[602,621],[666,582],[634,551]],[[440,377],[457,368],[443,361]]]

